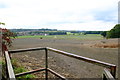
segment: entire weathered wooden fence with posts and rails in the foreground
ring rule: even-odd
[[[35,69],[35,70],[31,70],[31,71],[23,72],[23,73],[19,73],[19,74],[14,74],[9,54],[25,52],[25,51],[36,51],[36,50],[45,50],[45,68]],[[91,59],[91,58],[87,58],[87,57],[83,57],[83,56],[79,56],[79,55],[75,55],[75,54],[72,54],[72,53],[68,53],[68,52],[65,52],[65,51],[53,49],[53,48],[50,48],[50,47],[46,47],[46,48],[37,47],[37,48],[28,48],[28,49],[18,49],[18,50],[5,51],[5,60],[6,60],[6,64],[7,64],[8,78],[10,80],[16,80],[16,77],[19,77],[19,76],[23,76],[23,75],[27,75],[27,74],[31,74],[31,73],[35,73],[35,72],[40,72],[40,71],[45,71],[45,75],[46,75],[45,78],[46,78],[46,80],[48,80],[48,71],[49,71],[50,73],[54,74],[58,78],[61,78],[62,80],[67,80],[67,78],[58,74],[57,72],[53,71],[52,69],[50,69],[48,67],[48,50],[52,51],[52,52],[56,52],[58,54],[62,54],[62,55],[71,57],[71,58],[75,58],[75,59],[78,59],[78,60],[82,60],[82,61],[85,61],[85,62],[88,62],[88,63],[92,63],[92,64],[95,64],[95,65],[105,67],[102,79],[103,80],[115,80],[116,65],[106,63],[106,62],[102,62],[102,61],[98,61],[98,60]]]

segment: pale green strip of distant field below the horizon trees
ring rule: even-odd
[[[36,35],[36,36],[18,36],[17,38],[57,38],[57,39],[80,39],[80,40],[100,40],[103,37],[100,34],[87,35]]]

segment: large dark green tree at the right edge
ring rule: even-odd
[[[107,32],[107,38],[120,38],[120,24],[116,24]]]

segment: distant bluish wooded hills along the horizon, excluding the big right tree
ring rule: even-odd
[[[86,34],[101,34],[103,31],[73,31],[73,30],[57,30],[57,29],[10,29],[12,32],[16,33],[16,35],[67,35],[67,33],[71,33],[71,35],[81,33],[83,35]]]

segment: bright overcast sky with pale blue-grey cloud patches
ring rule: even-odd
[[[6,28],[110,30],[118,23],[119,0],[0,0]]]

